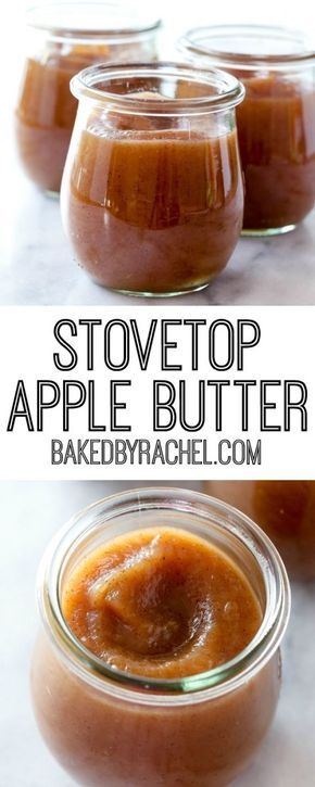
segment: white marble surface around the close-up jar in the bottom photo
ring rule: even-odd
[[[74,785],[46,749],[30,708],[28,669],[37,629],[35,576],[40,556],[56,528],[80,507],[123,486],[105,482],[0,484],[3,787]],[[315,584],[294,586],[276,719],[254,763],[234,787],[314,786],[314,612]]]

